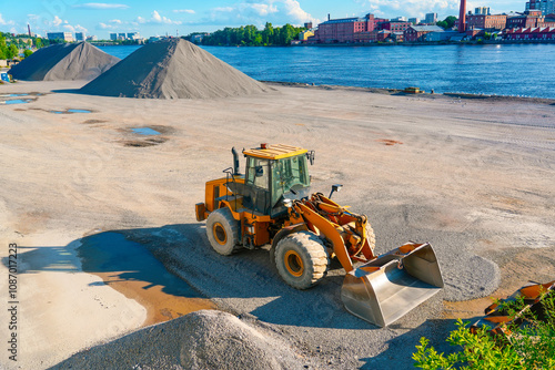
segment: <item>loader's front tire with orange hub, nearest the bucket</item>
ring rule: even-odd
[[[307,289],[319,284],[327,274],[329,263],[322,240],[310,232],[287,235],[275,247],[278,273],[296,289]]]

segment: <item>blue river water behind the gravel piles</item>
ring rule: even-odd
[[[555,44],[202,48],[263,81],[555,99]]]

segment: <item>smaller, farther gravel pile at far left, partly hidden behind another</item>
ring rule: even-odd
[[[26,81],[93,80],[119,61],[90,43],[65,43],[39,49],[9,73]]]

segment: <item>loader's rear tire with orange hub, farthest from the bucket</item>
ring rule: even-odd
[[[206,219],[206,236],[210,245],[220,255],[229,256],[240,249],[239,222],[230,209],[220,208],[212,212]]]

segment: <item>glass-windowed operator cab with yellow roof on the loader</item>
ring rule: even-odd
[[[243,205],[272,217],[286,213],[284,198],[310,194],[309,157],[313,152],[290,145],[243,151],[246,157]]]

